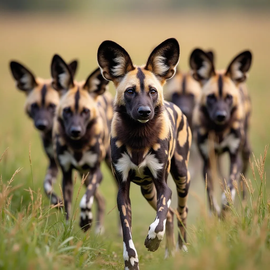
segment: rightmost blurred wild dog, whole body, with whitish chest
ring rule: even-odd
[[[194,132],[204,161],[204,179],[207,174],[209,205],[212,212],[217,215],[225,215],[228,202],[223,192],[222,212],[220,212],[213,194],[210,140],[214,140],[214,156],[229,153],[230,177],[225,188],[230,189],[233,201],[235,197],[233,180],[239,180],[240,173],[245,176],[251,153],[248,139],[251,104],[245,85],[251,60],[251,52],[244,51],[231,61],[227,70],[217,72],[212,59],[204,51],[195,49],[190,57],[193,77],[202,86],[200,101],[194,110]]]

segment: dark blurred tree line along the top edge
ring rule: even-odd
[[[6,11],[133,11],[182,8],[269,8],[270,0],[0,0]]]

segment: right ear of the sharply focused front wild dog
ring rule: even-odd
[[[153,72],[159,80],[165,81],[175,74],[179,55],[178,41],[175,38],[166,39],[151,52],[145,69]]]

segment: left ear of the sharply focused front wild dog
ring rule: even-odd
[[[100,44],[97,62],[103,77],[112,81],[120,81],[124,75],[135,69],[127,51],[111,40]]]

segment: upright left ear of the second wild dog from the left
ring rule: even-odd
[[[74,87],[72,72],[68,64],[58,54],[55,54],[52,58],[51,76],[53,79],[52,86],[57,91]]]

